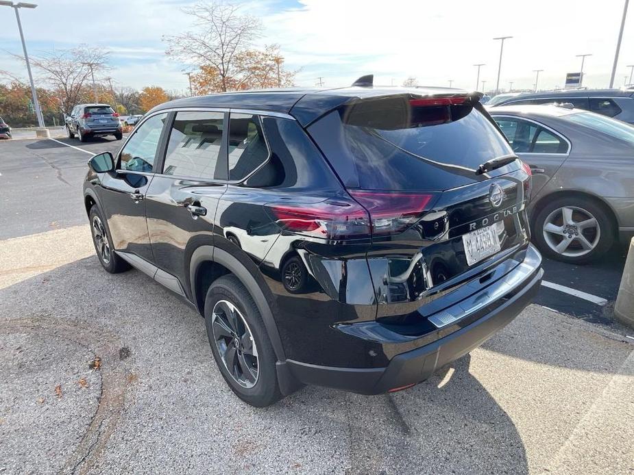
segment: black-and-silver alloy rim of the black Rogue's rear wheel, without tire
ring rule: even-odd
[[[258,348],[251,329],[239,309],[219,300],[212,310],[213,339],[225,368],[242,387],[258,382]]]

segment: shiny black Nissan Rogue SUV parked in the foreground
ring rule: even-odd
[[[415,385],[539,288],[531,172],[480,95],[361,84],[178,99],[90,159],[103,268],[195,307],[251,405]]]

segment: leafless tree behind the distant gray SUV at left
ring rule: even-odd
[[[95,73],[107,68],[108,53],[85,44],[59,51],[46,57],[34,57],[31,63],[40,71],[42,79],[51,86],[60,101],[60,109],[68,114],[80,102],[84,85],[93,79],[93,95],[97,95]]]

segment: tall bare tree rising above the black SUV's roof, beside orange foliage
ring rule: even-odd
[[[241,5],[225,1],[197,3],[183,11],[193,16],[195,31],[165,36],[167,55],[216,70],[220,90],[230,88],[236,55],[245,51],[262,34],[262,24],[254,16],[241,14]]]

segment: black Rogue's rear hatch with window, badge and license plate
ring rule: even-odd
[[[378,318],[439,311],[528,244],[530,170],[477,97],[359,99],[307,130],[369,214]]]

